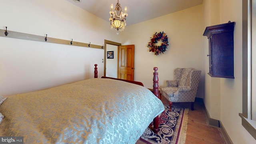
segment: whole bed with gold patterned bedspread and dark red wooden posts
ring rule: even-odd
[[[0,136],[23,136],[24,144],[135,144],[152,121],[157,132],[164,110],[157,68],[153,94],[140,82],[98,78],[96,66],[94,78],[2,100]]]

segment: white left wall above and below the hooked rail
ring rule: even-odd
[[[66,0],[0,0],[1,29],[102,46],[120,42],[102,20]],[[8,36],[7,36],[8,37]],[[104,50],[0,37],[0,94],[42,90],[104,75]]]

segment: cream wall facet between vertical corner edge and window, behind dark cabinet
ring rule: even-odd
[[[221,122],[235,144],[254,144],[256,140],[242,126],[242,1],[221,0],[220,22],[235,21],[234,77],[220,81]],[[237,127],[236,127],[237,126]]]

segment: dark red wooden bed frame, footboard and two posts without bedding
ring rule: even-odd
[[[97,64],[94,64],[95,68],[94,68],[94,78],[98,78],[98,68],[97,68]],[[153,94],[160,99],[160,94],[158,91],[158,72],[157,72],[158,68],[154,67],[154,72],[153,72]],[[132,84],[138,84],[140,86],[144,86],[142,84],[142,82],[136,82],[136,81],[132,81],[132,80],[123,80],[123,79],[119,79],[119,78],[111,78],[111,77],[106,77],[106,76],[102,76],[101,78],[110,78],[110,79],[114,79],[114,80],[122,80],[124,82],[130,82]],[[156,116],[153,120],[153,127],[150,126],[150,128],[153,130],[153,132],[155,134],[158,133],[158,122],[159,122],[159,118],[158,116]]]

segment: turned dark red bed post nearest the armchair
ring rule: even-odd
[[[158,72],[157,72],[157,70],[158,70],[158,68],[157,67],[154,67],[154,71],[155,72],[153,72],[153,94],[157,97],[157,98],[159,98],[159,92],[158,92],[158,88],[159,88],[159,86],[158,86]],[[159,98],[160,99],[160,98]],[[159,123],[159,118],[158,118],[158,116],[156,116],[155,118],[154,118],[154,120],[153,120],[153,125],[154,125],[154,128],[153,128],[153,132],[155,133],[155,134],[157,134],[158,133],[158,123]]]

